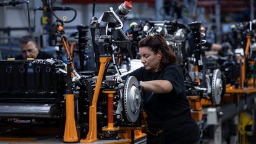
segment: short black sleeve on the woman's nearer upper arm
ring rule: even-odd
[[[185,96],[186,89],[184,85],[184,78],[182,70],[177,65],[171,65],[164,69],[163,80],[168,80],[173,85],[173,90],[176,96]]]

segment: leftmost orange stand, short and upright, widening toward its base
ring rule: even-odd
[[[66,94],[66,125],[63,142],[78,142],[74,114],[74,94]]]

